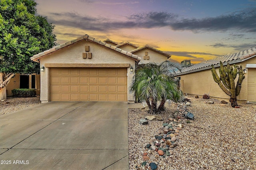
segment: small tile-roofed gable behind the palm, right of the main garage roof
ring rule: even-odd
[[[143,60],[139,64],[146,64],[150,62],[162,63],[171,57],[171,55],[164,53],[158,49],[145,45],[130,51],[130,53],[141,57]]]

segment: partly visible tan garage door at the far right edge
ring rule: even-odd
[[[248,101],[256,102],[256,69],[248,69]]]

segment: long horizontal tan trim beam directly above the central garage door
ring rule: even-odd
[[[99,63],[99,64],[88,64],[88,63],[45,63],[45,67],[67,67],[67,68],[74,68],[74,67],[102,67],[102,68],[107,68],[107,67],[116,67],[116,68],[122,68],[122,67],[130,67],[129,63],[124,63],[124,64],[104,64],[104,63]]]

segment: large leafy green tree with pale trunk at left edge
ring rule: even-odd
[[[0,100],[15,73],[39,72],[30,57],[55,45],[54,26],[36,16],[34,0],[0,0]]]

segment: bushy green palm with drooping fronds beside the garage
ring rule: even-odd
[[[149,107],[149,113],[156,114],[164,110],[166,100],[175,102],[181,99],[181,93],[173,81],[173,73],[170,70],[177,65],[170,61],[161,64],[140,64],[136,68],[130,92],[134,92],[141,102],[145,101]],[[160,102],[157,107],[157,103]]]

